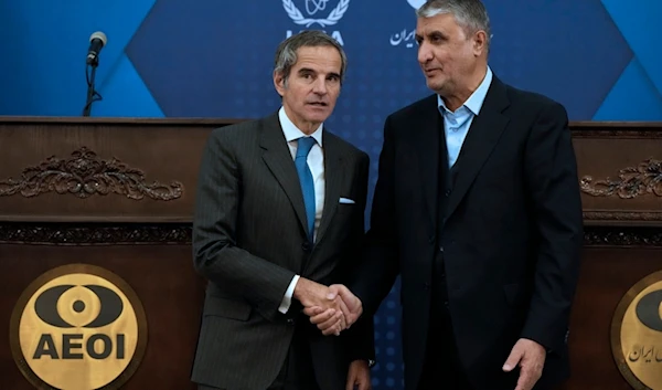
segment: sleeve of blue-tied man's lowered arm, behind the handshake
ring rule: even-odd
[[[357,202],[360,213],[352,221],[352,230],[354,232],[354,250],[355,259],[350,263],[352,266],[348,270],[349,275],[354,275],[359,272],[357,264],[363,261],[363,245],[365,238],[365,204],[367,202],[367,179],[370,173],[370,158],[366,154],[362,154],[359,167],[359,183],[360,189]],[[359,320],[348,330],[341,333],[343,341],[346,344],[349,351],[349,361],[353,360],[375,360],[375,334],[374,323],[371,315],[362,315]]]

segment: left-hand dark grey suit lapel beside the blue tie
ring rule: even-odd
[[[282,134],[278,114],[274,114],[264,120],[259,145],[264,149],[263,159],[265,164],[292,203],[301,228],[308,233],[299,175],[297,173],[292,155]]]

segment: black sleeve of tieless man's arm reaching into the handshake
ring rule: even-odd
[[[391,117],[384,125],[377,183],[371,211],[371,228],[365,238],[364,259],[350,288],[363,303],[365,316],[373,316],[388,295],[399,273],[395,212],[395,140]]]

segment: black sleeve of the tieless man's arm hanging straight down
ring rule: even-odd
[[[565,342],[584,239],[575,151],[559,104],[541,110],[527,140],[524,168],[538,246],[522,337],[555,349]]]

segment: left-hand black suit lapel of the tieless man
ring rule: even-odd
[[[444,122],[437,107],[437,95],[433,95],[426,102],[424,109],[419,115],[415,115],[412,124],[412,131],[419,133],[415,139],[413,151],[417,156],[412,156],[418,160],[416,169],[420,172],[423,197],[428,208],[430,231],[436,230],[437,225],[437,196],[439,180],[439,137],[444,134]]]

